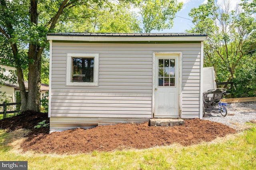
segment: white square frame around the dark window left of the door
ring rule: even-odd
[[[93,82],[72,82],[72,58],[94,58]],[[99,53],[67,53],[66,85],[98,86]]]

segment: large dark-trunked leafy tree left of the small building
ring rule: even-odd
[[[54,32],[56,25],[70,17],[74,8],[86,6],[84,13],[90,15],[102,3],[101,0],[0,0],[0,35],[7,47],[1,51],[11,51],[1,62],[8,61],[16,67],[22,111],[40,110],[41,59],[47,44],[46,33]],[[23,73],[26,67],[28,94]]]

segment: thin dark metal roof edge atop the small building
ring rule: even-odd
[[[48,33],[47,36],[102,36],[102,37],[181,37],[181,36],[207,36],[207,34],[196,33],[85,33],[65,32]]]

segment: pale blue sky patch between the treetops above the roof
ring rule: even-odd
[[[207,0],[178,0],[178,2],[183,2],[182,9],[176,13],[176,18],[174,19],[174,25],[171,29],[166,29],[163,31],[153,30],[152,33],[165,32],[165,33],[182,33],[186,30],[190,30],[193,26],[192,18],[188,16],[188,13],[192,8],[198,8],[200,4],[207,3]],[[236,4],[241,2],[241,0],[230,0],[232,8],[234,9]],[[217,0],[218,4],[223,4],[223,0]],[[182,17],[182,18],[181,18]],[[186,19],[185,19],[186,18]]]

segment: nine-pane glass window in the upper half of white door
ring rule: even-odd
[[[175,59],[158,59],[158,86],[175,86]]]

